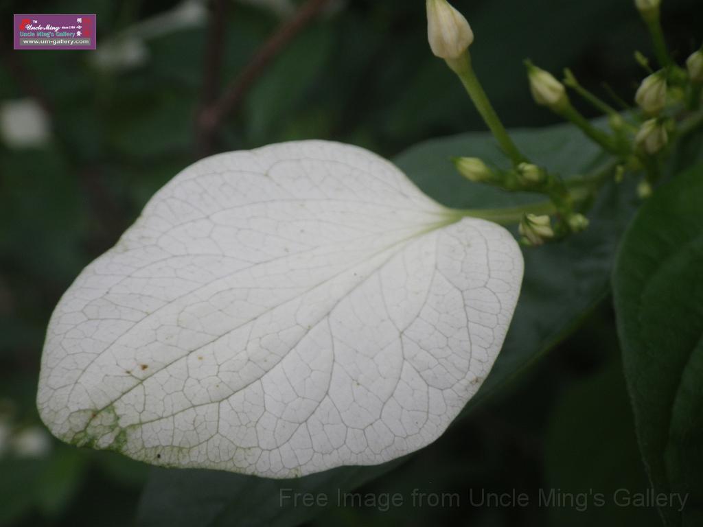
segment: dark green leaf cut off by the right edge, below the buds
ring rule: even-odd
[[[689,493],[668,525],[703,521],[703,167],[638,212],[613,275],[625,375],[654,488]]]

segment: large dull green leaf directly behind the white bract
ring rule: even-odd
[[[588,171],[603,161],[599,150],[569,126],[517,131],[515,138],[534,160],[562,174]],[[396,164],[425,193],[451,207],[508,207],[534,200],[466,181],[453,169],[451,157],[456,155],[478,155],[495,163],[503,160],[489,134],[465,134],[411,148],[396,158]],[[508,339],[484,383],[485,389],[467,409],[557,344],[607,294],[619,234],[633,212],[632,196],[628,188],[605,188],[586,233],[564,243],[525,251],[522,297]],[[156,469],[142,496],[138,525],[211,527],[236,522],[293,526],[314,518],[325,507],[280,507],[280,488],[348,492],[401,462],[342,467],[283,481],[217,471]]]

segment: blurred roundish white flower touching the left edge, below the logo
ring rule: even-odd
[[[0,136],[10,148],[41,146],[49,140],[49,117],[32,98],[0,104]]]

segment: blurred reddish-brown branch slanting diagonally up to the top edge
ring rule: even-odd
[[[225,93],[212,104],[202,108],[198,115],[200,153],[212,150],[215,131],[226,117],[242,103],[254,82],[262,76],[266,67],[283,51],[285,46],[304,30],[329,0],[307,0],[289,20],[285,20],[266,42],[254,53],[249,63],[231,82]]]

